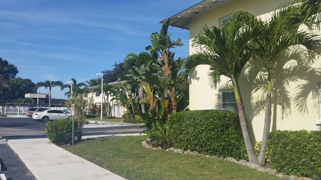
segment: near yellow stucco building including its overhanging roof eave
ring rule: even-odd
[[[269,19],[271,12],[285,2],[287,1],[203,0],[173,15],[170,25],[190,30],[190,54],[193,54],[196,49],[191,46],[191,40],[205,24],[219,27],[233,11],[239,9],[252,12],[262,20]],[[321,57],[309,69],[294,68],[300,67],[305,59],[304,49],[288,50],[274,64],[271,130],[321,130]],[[249,131],[253,139],[259,141],[262,139],[264,126],[266,90],[255,88],[266,86],[266,82],[258,83],[259,78],[264,76],[260,71],[264,67],[262,61],[250,63],[252,69],[244,70],[239,84]],[[208,72],[208,65],[199,65],[194,76],[190,77],[190,109],[235,110],[233,89],[226,85],[229,79],[222,76],[221,83],[213,89],[209,85]],[[294,77],[290,74],[298,74],[298,78],[290,81]]]

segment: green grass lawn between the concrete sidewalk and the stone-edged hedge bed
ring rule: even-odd
[[[144,139],[96,138],[63,148],[126,179],[279,179],[229,161],[149,149]]]

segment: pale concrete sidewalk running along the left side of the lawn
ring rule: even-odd
[[[119,135],[125,134],[83,138]],[[13,139],[8,144],[37,179],[125,179],[51,143],[48,138]]]

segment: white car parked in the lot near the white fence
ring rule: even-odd
[[[67,119],[70,117],[69,112],[65,112],[63,110],[54,110],[54,109],[48,109],[43,110],[41,112],[34,112],[32,115],[33,119],[39,119],[43,122],[47,122],[48,120],[58,120],[58,119]]]

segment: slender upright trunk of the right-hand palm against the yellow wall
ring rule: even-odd
[[[270,132],[271,126],[271,90],[272,90],[272,83],[271,83],[271,72],[268,72],[267,77],[267,95],[266,95],[266,109],[265,109],[265,118],[264,118],[264,128],[263,128],[263,137],[262,137],[262,144],[260,148],[260,153],[257,157],[259,165],[265,164],[265,153],[266,153],[266,146],[267,146],[267,135]]]

